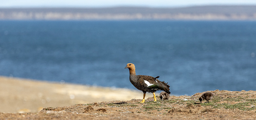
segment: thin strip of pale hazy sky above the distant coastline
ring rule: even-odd
[[[256,5],[256,0],[0,0],[8,7],[184,7],[193,5]]]

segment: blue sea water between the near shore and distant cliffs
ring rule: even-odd
[[[0,75],[136,89],[160,76],[174,95],[256,90],[255,21],[0,21]]]

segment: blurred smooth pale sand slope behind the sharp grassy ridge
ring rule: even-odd
[[[76,84],[49,83],[0,76],[0,112],[38,112],[46,107],[112,100],[142,99],[141,91]],[[152,97],[151,93],[146,94]]]

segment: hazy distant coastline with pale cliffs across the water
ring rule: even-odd
[[[256,5],[181,8],[0,8],[0,20],[256,20]]]

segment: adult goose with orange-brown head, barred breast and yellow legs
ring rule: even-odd
[[[154,95],[154,101],[157,101],[155,98],[155,91],[162,90],[170,94],[169,85],[165,81],[159,81],[157,77],[146,76],[146,75],[136,75],[135,65],[128,63],[125,68],[129,69],[130,72],[130,82],[133,86],[143,92],[143,100],[141,103],[144,103],[146,92],[151,92]]]

